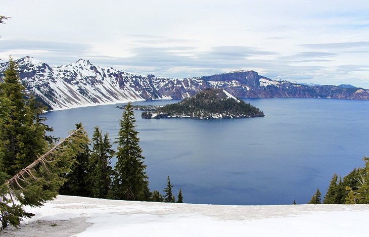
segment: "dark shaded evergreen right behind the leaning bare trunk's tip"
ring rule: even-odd
[[[82,123],[76,124],[76,129],[81,128]],[[82,144],[82,150],[75,156],[76,163],[73,165],[71,172],[65,175],[66,181],[60,188],[60,194],[70,196],[89,197],[90,191],[88,190],[87,182],[87,166],[89,160],[89,139],[87,132],[82,129],[81,135],[85,138],[85,143]]]

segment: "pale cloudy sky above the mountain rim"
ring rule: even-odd
[[[1,0],[0,59],[369,88],[369,1]]]

